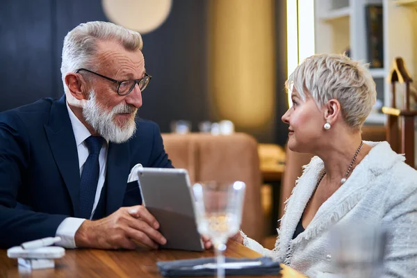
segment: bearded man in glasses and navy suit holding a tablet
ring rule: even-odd
[[[172,167],[158,126],[135,117],[151,79],[141,49],[139,33],[80,24],[64,40],[65,95],[0,113],[0,247],[166,243],[132,179],[138,165]]]

